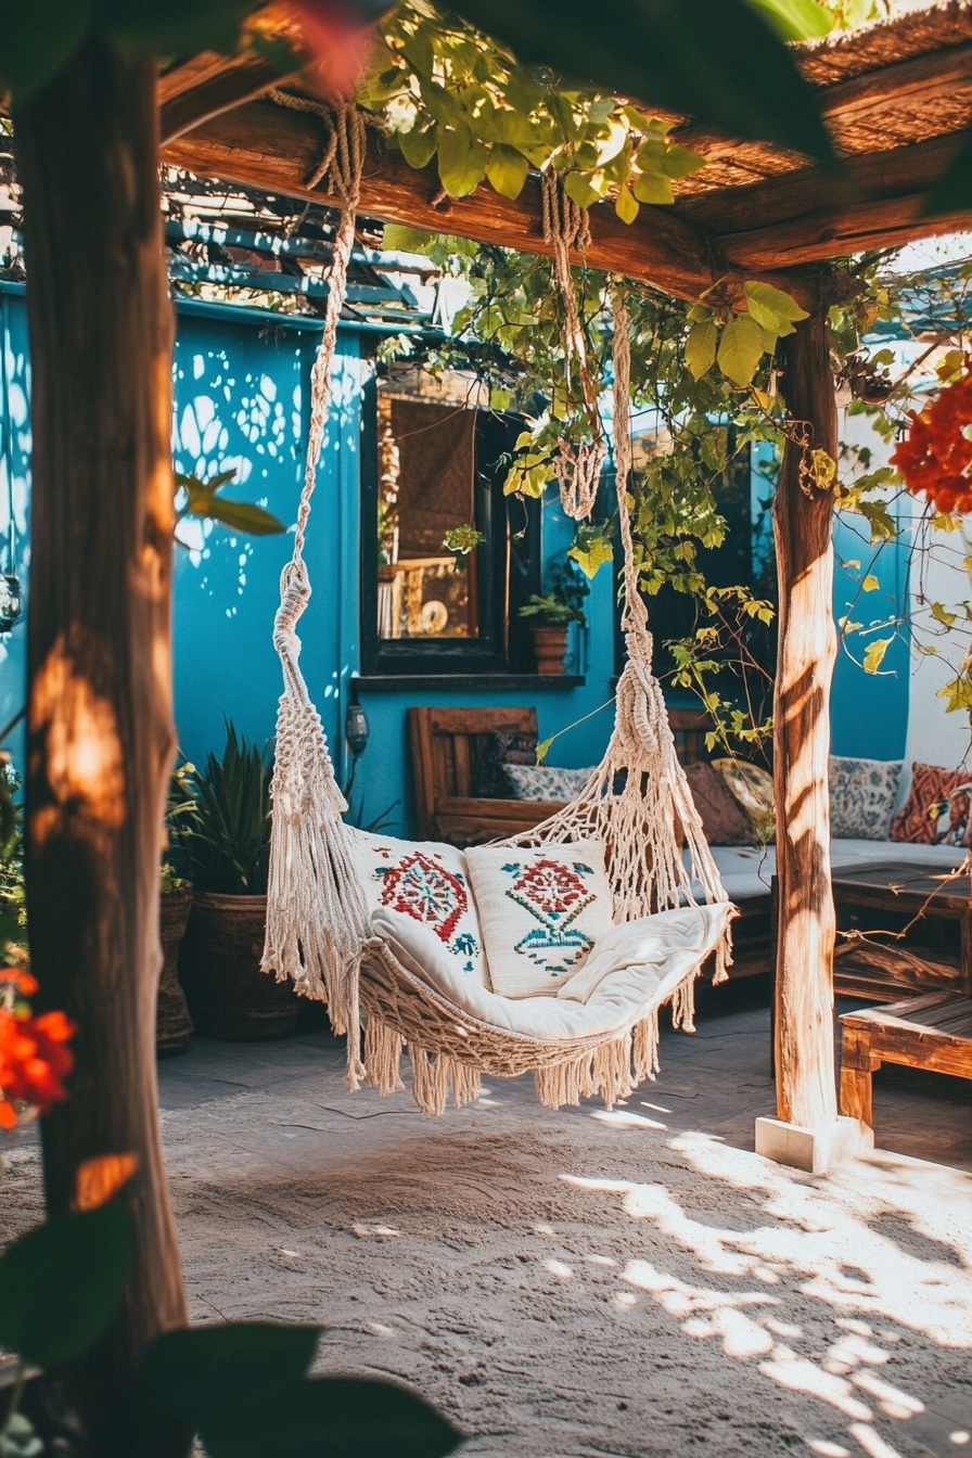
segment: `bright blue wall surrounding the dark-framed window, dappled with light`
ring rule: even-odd
[[[0,469],[13,462],[15,500],[20,531],[26,529],[29,494],[29,375],[22,290],[0,293],[4,308],[6,405],[0,410],[4,449]],[[306,560],[313,596],[300,624],[302,665],[321,710],[338,770],[348,771],[342,728],[348,682],[360,671],[360,383],[369,366],[361,360],[360,334],[341,330],[334,402],[318,471]],[[176,468],[207,478],[236,471],[227,494],[255,500],[291,529],[303,480],[310,366],[319,325],[229,309],[179,305],[175,348],[173,455]],[[0,402],[3,404],[3,402]],[[0,522],[6,512],[6,477]],[[175,714],[179,744],[200,763],[210,749],[222,751],[223,716],[259,742],[274,732],[281,690],[273,647],[280,572],[290,557],[287,537],[239,537],[224,526],[187,518],[178,531],[184,545],[175,561]],[[573,537],[558,503],[544,512],[544,553],[565,551]],[[22,544],[26,545],[26,544]],[[20,570],[26,566],[22,553]],[[602,569],[587,599],[590,633],[576,634],[579,668],[587,669],[583,688],[529,693],[443,693],[415,688],[402,693],[361,691],[370,722],[370,742],[356,780],[354,799],[364,796],[364,816],[396,803],[399,833],[412,825],[412,789],[405,709],[411,704],[535,703],[541,736],[548,736],[592,713],[611,698],[614,674],[612,574]],[[25,630],[0,639],[0,709],[16,713],[23,703]],[[595,764],[612,728],[606,709],[560,739],[551,763]],[[17,754],[19,757],[19,754]]]

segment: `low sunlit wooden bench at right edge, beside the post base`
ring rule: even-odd
[[[972,1079],[972,997],[925,993],[841,1016],[841,1114],[870,1128],[871,1076],[882,1063]]]

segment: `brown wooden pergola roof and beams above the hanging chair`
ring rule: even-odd
[[[274,9],[261,12],[264,23]],[[708,159],[676,184],[669,208],[643,207],[625,226],[614,206],[592,208],[593,267],[646,278],[681,297],[720,283],[771,277],[804,303],[819,290],[820,260],[972,227],[972,208],[930,222],[922,207],[972,125],[972,0],[944,0],[893,20],[797,48],[845,175],[835,181],[806,159],[762,143],[737,143],[676,120],[673,136]],[[265,64],[194,57],[159,83],[163,159],[187,171],[271,191],[332,201],[305,187],[324,144],[322,121],[259,93],[274,85]],[[650,96],[641,98],[650,105]],[[452,232],[545,252],[539,187],[516,203],[482,184],[469,198],[440,201],[434,165],[411,169],[373,136],[361,211],[386,222]]]

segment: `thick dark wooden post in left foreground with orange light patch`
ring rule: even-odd
[[[169,1458],[140,1401],[146,1343],[187,1306],[157,1121],[159,853],[171,706],[172,309],[156,174],[156,63],[89,39],[17,108],[32,357],[26,872],[45,1006],[77,1025],[44,1118],[51,1215],[77,1166],[134,1152],[124,1308],[68,1373],[85,1451]]]

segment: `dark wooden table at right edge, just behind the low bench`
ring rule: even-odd
[[[972,897],[966,876],[924,862],[871,862],[834,872],[834,990],[883,1002],[905,990],[972,996]],[[917,919],[917,920],[915,920]],[[902,940],[895,937],[912,923]]]

